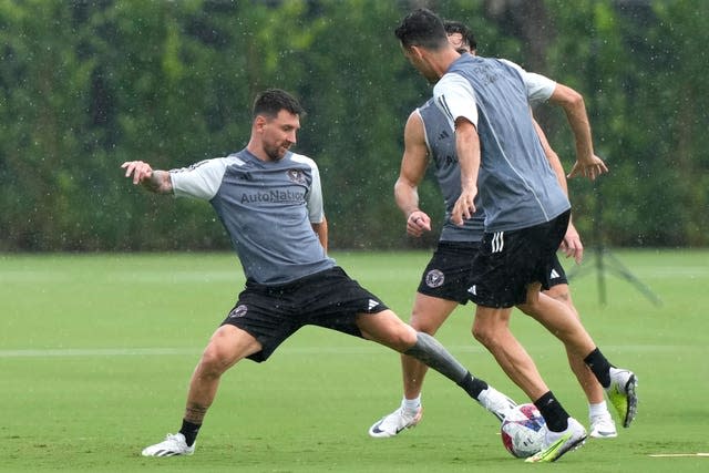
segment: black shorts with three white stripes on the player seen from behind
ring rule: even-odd
[[[483,307],[505,308],[526,301],[526,289],[552,286],[556,257],[568,227],[567,210],[551,222],[514,232],[485,233],[473,259],[470,299]]]

